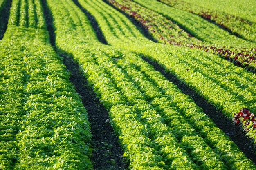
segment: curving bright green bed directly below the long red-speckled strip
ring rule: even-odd
[[[157,44],[141,36],[126,36],[126,32],[121,31],[113,33],[111,30],[118,30],[121,26],[133,31],[136,27],[132,26],[124,15],[101,1],[79,0],[79,2],[94,15],[109,44],[135,51],[159,62],[166,71],[177,75],[182,82],[194,88],[229,119],[232,119],[234,113],[238,113],[242,108],[249,108],[255,113],[254,74],[199,49]],[[113,13],[115,15],[112,15]],[[250,136],[255,140],[256,135],[253,132]]]

